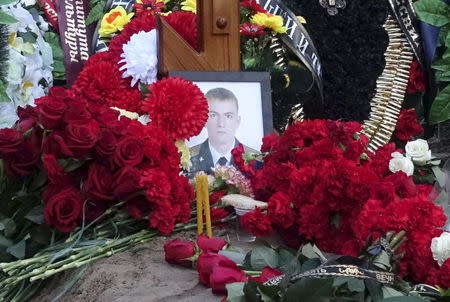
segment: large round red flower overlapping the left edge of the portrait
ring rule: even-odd
[[[208,120],[208,103],[195,84],[168,77],[150,85],[149,90],[142,109],[149,113],[152,124],[177,140],[200,133]]]

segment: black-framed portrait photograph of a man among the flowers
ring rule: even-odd
[[[233,165],[231,150],[239,144],[245,152],[259,152],[262,138],[273,131],[268,72],[169,71],[169,76],[194,82],[208,100],[206,126],[186,142],[190,175]]]

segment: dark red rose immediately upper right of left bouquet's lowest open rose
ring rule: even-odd
[[[106,167],[93,163],[89,166],[83,192],[94,200],[113,200],[116,176]]]

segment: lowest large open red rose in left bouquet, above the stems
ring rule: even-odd
[[[85,197],[72,187],[52,194],[45,203],[45,223],[62,232],[72,232],[81,216],[84,200]]]

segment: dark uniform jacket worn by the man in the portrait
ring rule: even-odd
[[[239,146],[241,143],[236,139],[234,147]],[[244,152],[259,153],[259,151],[250,147],[244,146]],[[209,149],[209,141],[205,140],[203,143],[196,145],[189,149],[191,153],[192,168],[188,173],[189,177],[193,177],[195,173],[204,171],[207,174],[211,174],[211,168],[214,167],[211,150]],[[233,157],[231,157],[231,165],[234,165]]]

